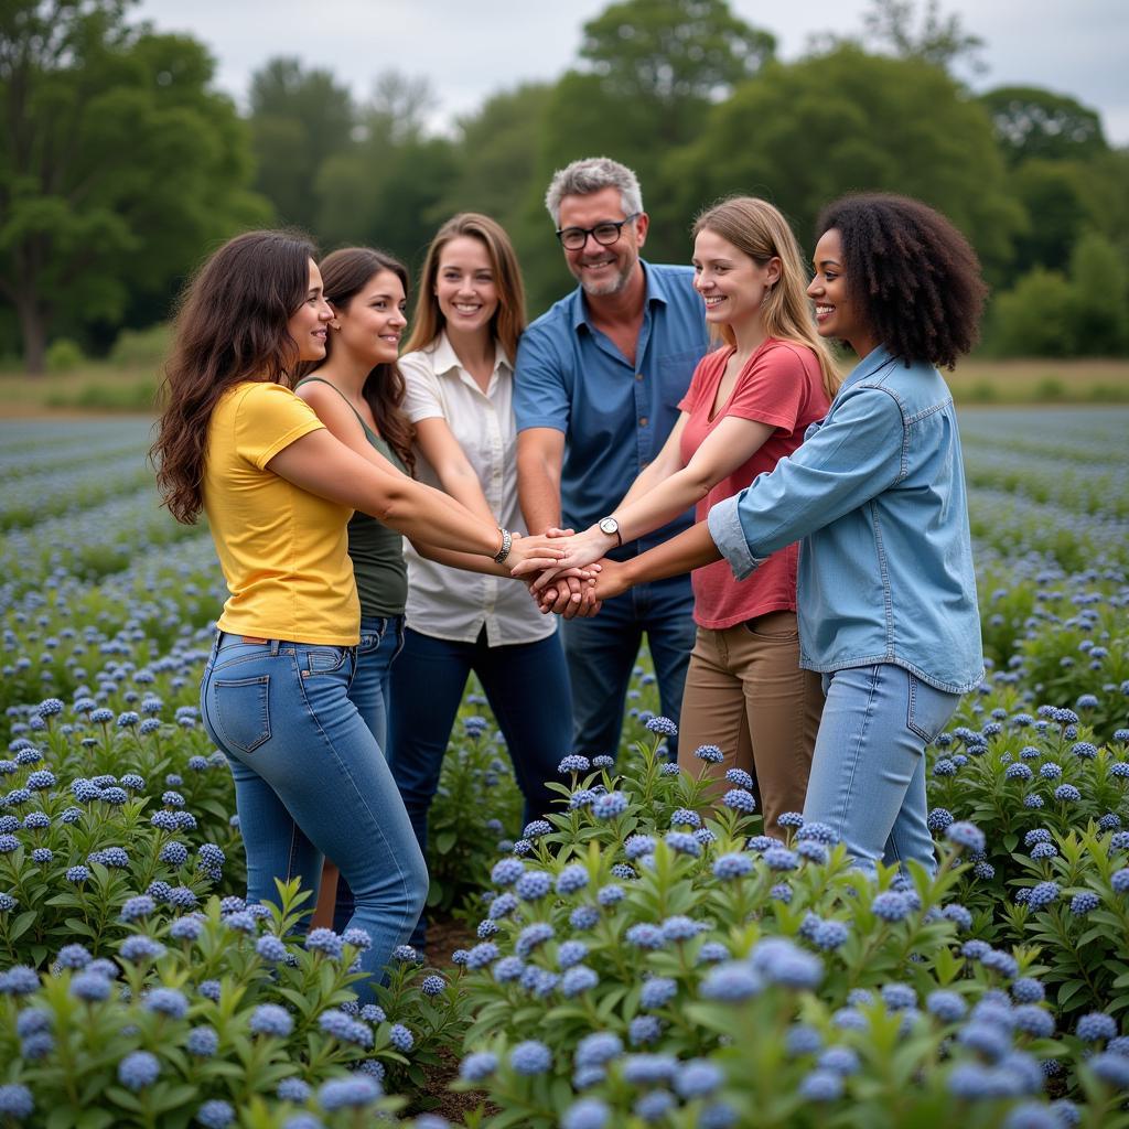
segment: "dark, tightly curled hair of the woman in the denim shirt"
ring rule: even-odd
[[[850,296],[875,338],[907,364],[955,367],[980,339],[988,294],[969,240],[920,200],[886,193],[828,204],[816,239],[832,228]]]

